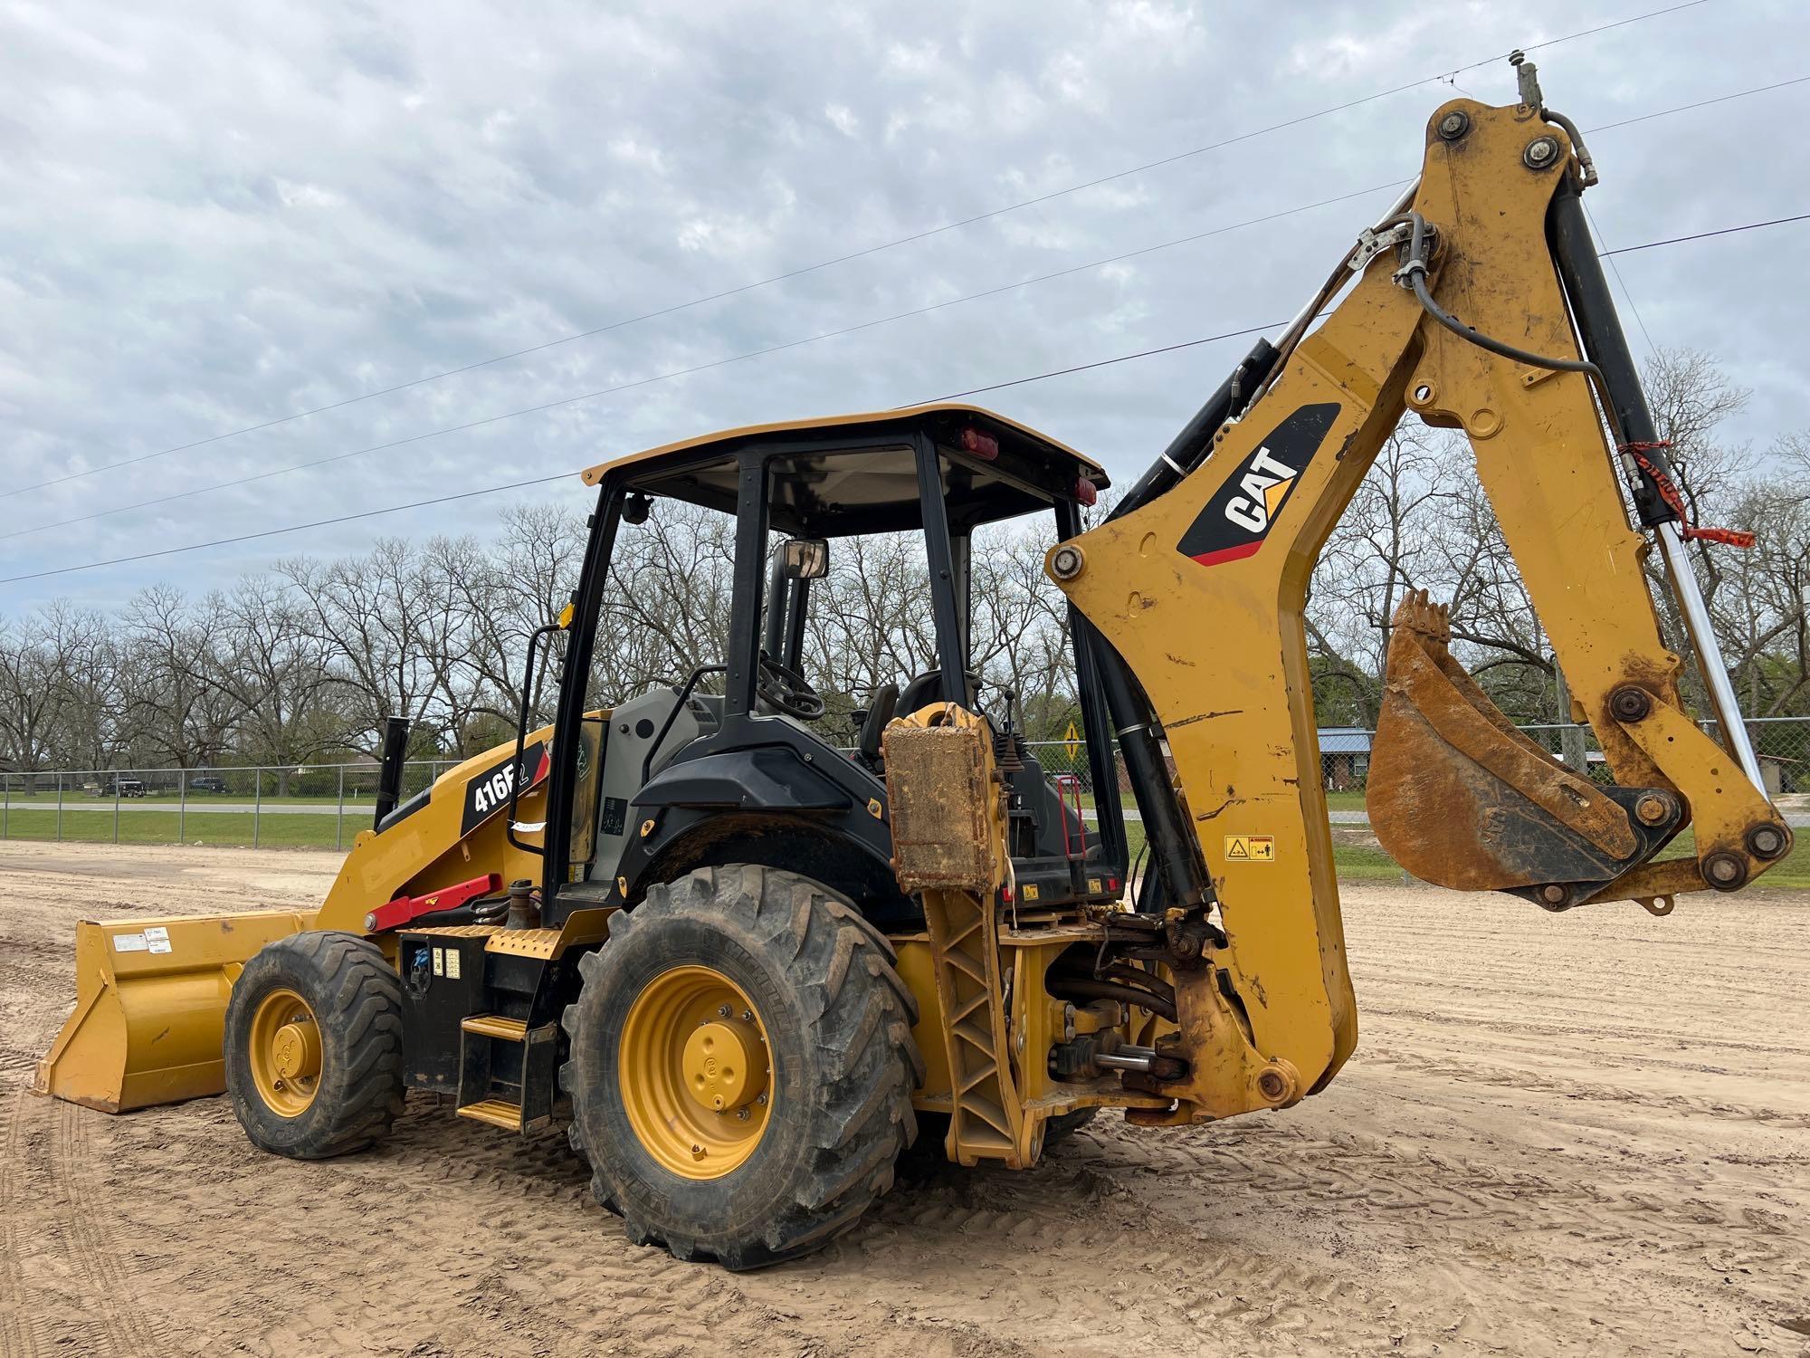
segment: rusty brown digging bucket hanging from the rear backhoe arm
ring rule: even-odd
[[[1370,755],[1370,827],[1415,876],[1515,891],[1564,909],[1660,847],[1681,815],[1643,826],[1642,789],[1604,788],[1522,735],[1446,650],[1446,610],[1421,590],[1396,610]]]

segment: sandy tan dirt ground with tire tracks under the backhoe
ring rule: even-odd
[[[1352,887],[1363,1039],[1329,1092],[929,1170],[729,1275],[630,1246],[563,1135],[433,1099],[295,1164],[224,1099],[27,1092],[78,914],[308,905],[335,867],[0,846],[0,1351],[1810,1354],[1810,894],[1653,920]]]

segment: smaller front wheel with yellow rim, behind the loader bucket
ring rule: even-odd
[[[402,978],[357,934],[279,938],[239,972],[224,1047],[253,1146],[297,1161],[364,1150],[402,1112]]]

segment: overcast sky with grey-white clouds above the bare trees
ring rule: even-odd
[[[1676,0],[0,7],[0,491],[659,311],[1415,83],[1343,112],[407,391],[0,498],[0,576],[574,471],[713,427],[898,406],[1287,320],[1515,45]],[[1238,11],[1236,14],[1231,11]],[[1586,132],[1810,76],[1797,0],[1533,53]],[[1602,130],[1607,246],[1810,210],[1810,83]],[[1372,190],[1361,192],[1359,190]],[[1305,205],[1352,196],[1323,206]],[[1256,226],[398,449],[20,534],[1176,237]],[[1622,257],[1734,431],[1810,427],[1810,223]],[[1647,339],[1627,315],[1636,353]],[[1129,480],[1251,339],[979,397]],[[514,498],[585,505],[574,480]],[[291,552],[476,532],[510,496],[0,585],[0,614],[205,590]]]

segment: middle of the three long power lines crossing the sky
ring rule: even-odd
[[[1624,120],[1620,123],[1613,123],[1613,127],[1634,127],[1636,123],[1647,123],[1647,121],[1653,121],[1654,118],[1669,118],[1671,114],[1687,112],[1691,109],[1700,109],[1700,107],[1703,107],[1703,103],[1725,103],[1729,100],[1738,100],[1738,98],[1743,98],[1747,94],[1763,94],[1767,91],[1783,89],[1785,85],[1796,85],[1796,83],[1803,83],[1806,80],[1810,80],[1810,76],[1801,76],[1799,80],[1786,80],[1786,81],[1779,81],[1779,83],[1774,83],[1774,85],[1761,85],[1761,87],[1756,87],[1756,89],[1750,89],[1750,91],[1736,91],[1734,94],[1723,94],[1723,96],[1718,96],[1716,100],[1705,100],[1705,101],[1698,101],[1698,103],[1687,103],[1687,105],[1680,105],[1680,107],[1674,107],[1674,109],[1654,109],[1653,112],[1645,112],[1645,114],[1640,114],[1636,118],[1627,118],[1627,120]],[[1604,130],[1604,129],[1586,129],[1587,136],[1595,136],[1598,130]],[[693,364],[690,368],[679,368],[679,369],[672,369],[672,371],[666,371],[666,373],[655,373],[652,377],[643,377],[643,378],[637,378],[634,382],[621,382],[617,386],[601,387],[597,391],[583,391],[583,393],[579,393],[576,397],[561,397],[557,400],[543,402],[539,406],[527,406],[527,407],[516,409],[516,411],[503,411],[500,415],[487,415],[487,416],[481,416],[481,418],[476,418],[476,420],[467,420],[463,424],[452,424],[452,426],[445,426],[442,429],[427,429],[427,431],[418,433],[418,435],[407,435],[404,438],[393,438],[393,440],[384,442],[384,444],[371,444],[367,447],[357,447],[357,449],[349,449],[346,453],[331,453],[331,454],[322,456],[322,458],[311,458],[308,462],[293,462],[293,464],[290,464],[286,467],[272,467],[268,471],[250,473],[246,476],[237,476],[237,478],[228,480],[228,482],[214,482],[212,485],[197,485],[197,487],[188,489],[188,491],[174,491],[170,494],[154,496],[150,500],[138,500],[138,502],[129,503],[129,505],[114,505],[112,509],[98,509],[98,511],[92,511],[92,512],[87,512],[87,514],[76,514],[72,518],[51,520],[51,521],[34,523],[31,527],[24,527],[24,529],[13,529],[9,532],[0,532],[0,541],[9,541],[13,538],[29,538],[34,532],[47,532],[51,529],[67,529],[67,527],[72,527],[76,523],[92,523],[96,520],[110,518],[114,514],[129,514],[129,512],[138,511],[138,509],[156,509],[157,505],[168,505],[168,503],[174,503],[177,500],[190,500],[194,496],[210,494],[214,491],[230,491],[230,489],[235,489],[239,485],[252,485],[255,482],[270,480],[273,476],[286,476],[288,473],[293,473],[293,471],[310,471],[313,467],[324,467],[324,465],[329,465],[333,462],[346,462],[348,458],[364,456],[367,453],[386,453],[386,451],[391,451],[391,449],[396,449],[396,447],[405,447],[409,444],[420,444],[420,442],[425,442],[429,438],[443,438],[445,435],[454,435],[454,433],[465,433],[465,431],[471,431],[471,429],[480,429],[483,426],[498,424],[501,420],[514,420],[514,418],[519,418],[523,415],[541,415],[541,413],[550,411],[550,409],[559,409],[563,406],[572,406],[572,404],[585,402],[585,400],[597,400],[601,397],[619,395],[623,391],[632,391],[635,387],[652,386],[655,382],[668,382],[668,380],[673,380],[673,378],[679,378],[679,377],[691,377],[695,373],[704,373],[704,371],[710,371],[710,369],[715,369],[715,368],[728,368],[731,364],[748,362],[748,360],[753,360],[753,359],[764,359],[764,357],[769,357],[773,353],[782,353],[786,349],[802,348],[805,344],[816,344],[820,340],[840,339],[843,335],[851,335],[851,333],[856,333],[856,331],[862,331],[862,330],[872,330],[876,326],[892,324],[896,320],[909,320],[912,317],[929,315],[932,311],[941,311],[941,310],[950,308],[950,306],[961,306],[963,302],[981,301],[981,299],[986,299],[986,297],[997,297],[999,293],[1014,292],[1017,288],[1030,288],[1030,286],[1035,286],[1035,284],[1041,284],[1041,282],[1052,282],[1055,279],[1064,279],[1064,277],[1072,277],[1075,273],[1084,273],[1084,272],[1093,270],[1093,268],[1104,268],[1108,264],[1117,264],[1117,263],[1122,263],[1126,259],[1137,259],[1140,255],[1157,253],[1160,250],[1173,250],[1175,246],[1193,244],[1196,241],[1204,241],[1204,239],[1209,239],[1213,235],[1224,235],[1225,232],[1240,230],[1243,226],[1258,226],[1258,225],[1263,225],[1263,223],[1269,223],[1269,221],[1280,221],[1281,217],[1291,217],[1291,215],[1298,215],[1301,212],[1310,212],[1314,208],[1330,206],[1334,203],[1347,203],[1347,201],[1350,201],[1354,197],[1365,197],[1367,194],[1376,194],[1376,192],[1381,192],[1385,188],[1399,188],[1399,186],[1403,186],[1406,183],[1408,183],[1408,179],[1396,179],[1396,181],[1386,183],[1386,185],[1376,185],[1372,188],[1359,188],[1359,190],[1354,190],[1354,192],[1348,192],[1348,194],[1338,194],[1334,197],[1325,197],[1325,199],[1319,199],[1316,203],[1301,203],[1298,206],[1283,208],[1280,212],[1271,212],[1271,214],[1265,214],[1262,217],[1251,217],[1247,221],[1229,223],[1229,225],[1224,225],[1224,226],[1213,226],[1213,228],[1204,230],[1204,232],[1195,232],[1191,235],[1182,235],[1182,237],[1178,237],[1175,241],[1160,241],[1157,244],[1140,246],[1137,250],[1128,250],[1128,252],[1119,253],[1119,255],[1108,255],[1104,259],[1093,259],[1093,261],[1088,261],[1084,264],[1070,264],[1068,268],[1061,268],[1061,270],[1055,270],[1055,272],[1050,272],[1050,273],[1039,273],[1039,275],[1034,275],[1034,277],[1028,277],[1028,279],[1017,279],[1014,282],[1005,282],[1005,284],[999,284],[999,286],[994,286],[994,288],[985,288],[981,292],[965,293],[961,297],[950,297],[950,299],[945,299],[941,302],[932,302],[929,306],[912,308],[909,311],[898,311],[894,315],[878,317],[878,319],[872,319],[872,320],[862,320],[862,322],[853,324],[853,326],[843,326],[840,330],[829,330],[829,331],[822,331],[822,333],[816,333],[816,335],[807,335],[807,337],[796,339],[796,340],[786,340],[782,344],[769,344],[766,348],[748,349],[746,353],[735,353],[735,355],[728,355],[724,359],[713,359],[710,362]],[[1616,279],[1622,279],[1622,270],[1620,270],[1618,264],[1615,264],[1615,261],[1611,261],[1611,268],[1615,270]],[[1625,281],[1622,281],[1622,295],[1627,299],[1629,310],[1633,311],[1634,320],[1640,324],[1642,335],[1645,335],[1647,333],[1647,324],[1645,324],[1645,320],[1640,319],[1640,310],[1634,306],[1634,299],[1627,292],[1627,282]],[[1649,348],[1653,346],[1653,337],[1651,335],[1647,335],[1647,346]],[[69,480],[69,478],[65,478],[65,480]]]

